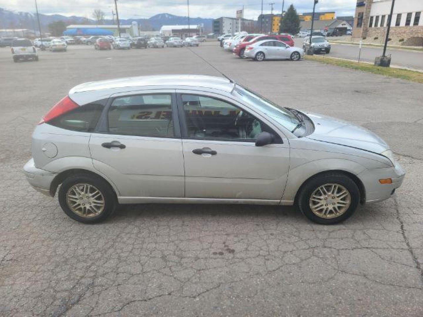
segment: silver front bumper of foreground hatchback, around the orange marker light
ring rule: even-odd
[[[388,199],[399,188],[405,177],[405,170],[398,162],[393,167],[365,169],[357,175],[365,188],[365,202],[380,202]],[[379,179],[391,178],[392,183],[381,184]]]

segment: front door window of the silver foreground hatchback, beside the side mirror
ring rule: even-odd
[[[253,142],[262,131],[274,134],[254,116],[220,99],[182,95],[182,106],[188,138]]]

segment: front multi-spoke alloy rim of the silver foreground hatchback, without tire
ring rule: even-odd
[[[330,219],[341,216],[351,204],[351,194],[340,184],[330,183],[319,186],[310,196],[311,211],[320,218]]]

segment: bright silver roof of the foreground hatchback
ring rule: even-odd
[[[154,75],[125,77],[110,80],[101,80],[98,82],[85,82],[73,87],[69,94],[82,93],[93,90],[107,90],[128,87],[146,87],[146,86],[186,86],[186,87],[205,87],[216,90],[222,90],[230,93],[233,90],[234,83],[229,79],[206,75]]]

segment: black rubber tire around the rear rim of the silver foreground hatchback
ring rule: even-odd
[[[92,185],[96,187],[96,189],[98,189],[102,193],[102,196],[104,197],[104,208],[101,211],[101,213],[99,213],[97,216],[83,217],[73,212],[69,208],[69,205],[66,199],[67,193],[69,189],[71,189],[72,186],[79,183]],[[98,223],[103,221],[108,216],[110,216],[115,211],[116,207],[118,206],[116,194],[113,191],[110,184],[107,183],[102,178],[89,175],[89,174],[77,174],[69,178],[66,178],[63,181],[62,185],[60,186],[58,198],[59,198],[60,207],[66,213],[66,215],[68,215],[70,218],[76,221],[79,221],[85,224],[93,224],[93,223]]]

